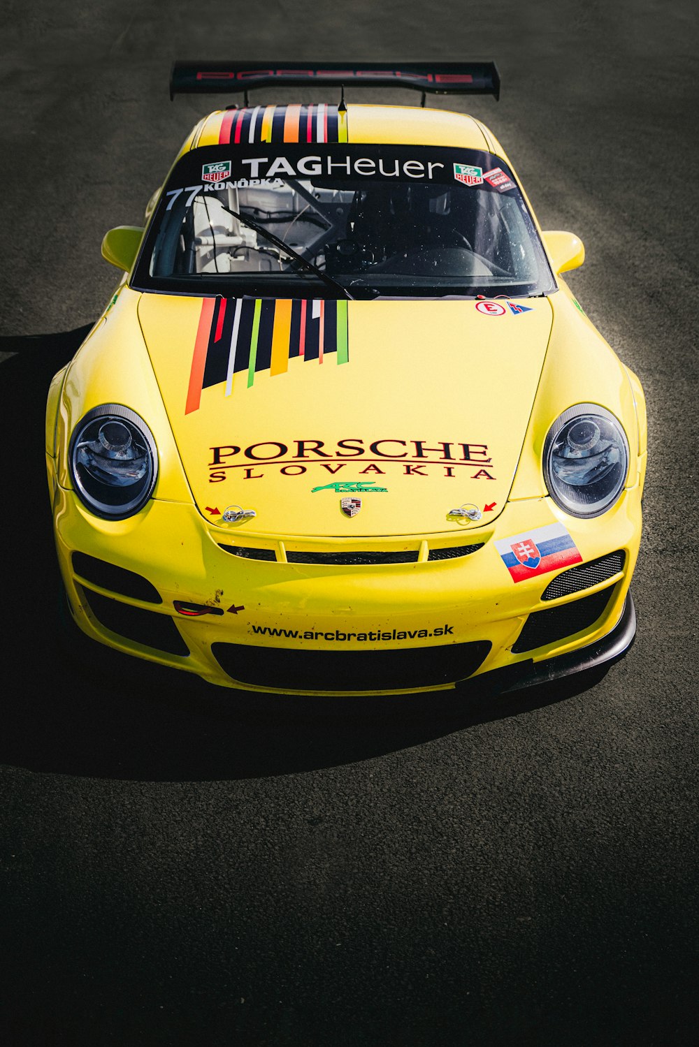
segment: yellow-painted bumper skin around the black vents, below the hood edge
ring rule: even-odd
[[[485,539],[484,548],[477,553],[458,560],[384,567],[326,567],[239,559],[220,548],[231,543],[230,531],[203,526],[193,507],[172,503],[153,500],[131,520],[95,522],[71,492],[60,490],[54,515],[59,559],[70,603],[78,623],[89,636],[121,650],[198,673],[212,683],[263,690],[236,683],[224,674],[212,654],[212,644],[263,644],[291,650],[355,652],[408,650],[418,646],[433,647],[438,658],[444,633],[438,637],[432,633],[446,628],[451,630],[446,633],[451,644],[472,641],[493,644],[489,655],[478,670],[484,673],[532,656],[543,661],[593,643],[613,628],[621,614],[638,551],[639,502],[638,488],[627,491],[608,514],[604,536],[594,520],[571,524],[550,498],[512,503],[495,527],[485,533],[481,533],[482,529],[469,532],[469,540]],[[552,575],[514,584],[495,540],[562,519],[584,560],[594,559],[611,549],[625,550],[624,575],[586,589],[585,595],[589,595],[616,583],[604,618],[593,628],[533,652],[514,655],[509,648],[527,615],[554,607],[565,600],[541,602],[541,593]],[[259,539],[260,544],[263,541]],[[269,548],[279,542],[285,548],[294,544],[284,534],[266,539]],[[348,542],[326,539],[320,544],[331,551],[347,548]],[[352,549],[357,548],[356,542],[349,544]],[[84,596],[85,583],[75,580],[70,567],[69,554],[75,549],[87,549],[92,556],[127,570],[137,570],[147,577],[162,595],[163,604],[151,608],[146,603],[129,602],[152,612],[174,616],[190,654],[163,655],[105,629],[90,614]],[[109,591],[96,591],[111,595]],[[224,614],[216,618],[181,618],[174,615],[174,600],[207,603],[223,609]],[[232,607],[237,610],[230,610]],[[262,632],[263,629],[267,631]],[[406,638],[392,639],[394,630],[406,633]],[[293,632],[298,636],[292,636]],[[372,639],[379,632],[391,639]],[[410,632],[414,633],[412,638]],[[454,684],[445,686],[450,688]],[[418,689],[403,687],[398,690]],[[312,688],[294,687],[290,680],[288,686],[276,690],[302,694]],[[342,693],[361,692],[343,689]]]

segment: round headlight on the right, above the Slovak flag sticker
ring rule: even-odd
[[[599,516],[614,505],[629,471],[629,442],[614,416],[594,403],[564,410],[544,443],[544,478],[571,516]]]

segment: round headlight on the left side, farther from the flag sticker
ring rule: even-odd
[[[73,429],[69,449],[75,493],[95,516],[125,519],[148,502],[158,472],[153,435],[118,403],[94,407]]]

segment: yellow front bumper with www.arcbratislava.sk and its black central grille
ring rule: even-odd
[[[640,538],[637,487],[625,491],[604,521],[573,519],[550,498],[538,498],[510,503],[496,520],[462,532],[356,541],[253,534],[247,526],[226,530],[202,519],[192,505],[156,500],[131,519],[102,520],[71,491],[53,491],[59,560],[81,629],[218,685],[285,694],[391,694],[450,689],[466,678],[478,686],[481,676],[485,685],[488,674],[507,690],[620,656],[633,639],[627,595]],[[496,540],[560,522],[583,564],[621,551],[624,565],[581,591],[542,601],[556,572],[515,583]],[[280,562],[286,559],[280,549],[399,552],[416,542],[416,562]],[[469,543],[482,548],[454,559],[427,559],[428,544]],[[222,548],[231,544],[272,550],[265,555],[276,558],[231,555]],[[83,560],[73,553],[84,554]],[[146,579],[161,602],[125,594],[108,577],[107,584],[85,577],[85,556]],[[586,599],[593,618],[588,612],[567,619],[582,627],[563,636],[544,629],[545,642],[522,649],[530,615],[545,611],[550,619],[556,608],[582,608]],[[210,610],[185,617],[176,602]]]

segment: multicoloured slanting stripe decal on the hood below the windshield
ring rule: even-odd
[[[225,382],[231,396],[235,375],[268,371],[283,375],[289,360],[323,363],[334,353],[349,362],[347,302],[323,298],[204,298],[190,369],[184,414],[199,409],[201,391]]]

